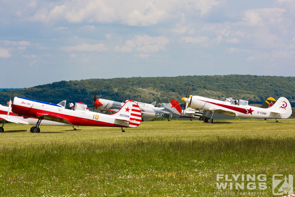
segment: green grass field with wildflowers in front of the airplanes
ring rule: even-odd
[[[158,121],[125,133],[61,126],[30,133],[31,126],[6,124],[0,196],[273,196],[272,175],[295,175],[294,123]],[[217,174],[245,174],[245,181],[217,181]],[[247,174],[256,179],[247,181]],[[237,182],[245,188],[236,190]],[[218,189],[217,183],[234,186]]]

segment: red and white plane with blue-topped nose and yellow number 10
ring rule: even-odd
[[[66,101],[58,104],[43,102],[23,97],[14,97],[12,112],[23,116],[24,119],[38,118],[31,132],[40,132],[42,120],[54,121],[74,126],[108,126],[108,127],[137,127],[141,123],[141,111],[136,102],[128,101],[114,114],[107,115],[89,111],[87,105],[76,103],[74,110],[65,108]]]

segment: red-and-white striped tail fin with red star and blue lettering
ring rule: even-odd
[[[117,120],[128,122],[128,127],[137,127],[142,120],[141,110],[132,100],[128,100],[117,113],[111,115],[117,116]]]

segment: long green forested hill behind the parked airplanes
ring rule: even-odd
[[[13,90],[12,96],[27,97],[52,103],[62,100],[91,104],[94,91],[97,98],[110,100],[126,99],[148,102],[181,102],[187,87],[191,94],[220,99],[233,97],[261,103],[268,97],[286,97],[295,101],[295,77],[218,75],[218,76],[177,76],[177,77],[132,77],[113,79],[86,79],[60,81],[31,88]],[[0,92],[0,104],[9,100],[10,90]]]

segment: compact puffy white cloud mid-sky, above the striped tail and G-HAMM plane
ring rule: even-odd
[[[148,35],[137,35],[132,40],[126,40],[126,45],[116,46],[115,51],[130,53],[133,50],[143,53],[155,53],[165,49],[169,39],[165,36],[151,37]]]

